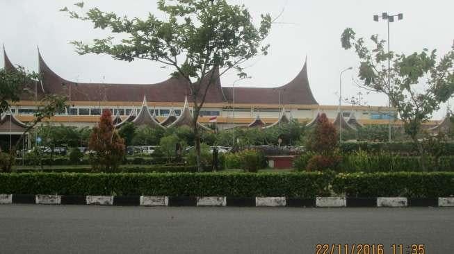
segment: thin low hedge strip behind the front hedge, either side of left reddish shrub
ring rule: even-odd
[[[92,167],[65,167],[61,169],[43,169],[41,170],[39,167],[37,169],[16,169],[17,173],[27,173],[27,172],[67,172],[67,173],[90,173],[93,171]],[[120,166],[121,173],[165,173],[165,172],[195,172],[197,171],[197,167],[195,166],[172,166],[172,165],[163,165],[163,166],[152,166],[152,167],[144,167],[141,165],[138,166],[128,166],[122,167]]]

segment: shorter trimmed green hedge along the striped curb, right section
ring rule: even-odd
[[[351,197],[446,197],[454,195],[454,173],[339,173],[332,189]]]

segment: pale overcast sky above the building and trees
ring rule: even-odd
[[[75,82],[104,83],[158,83],[167,79],[171,70],[148,60],[124,62],[110,56],[79,56],[70,44],[72,40],[91,42],[108,35],[94,30],[90,22],[70,19],[67,6],[78,10],[73,3],[62,0],[0,0],[0,43],[15,65],[38,71],[37,46],[44,61],[58,75]],[[165,18],[151,0],[88,0],[88,10],[113,11],[128,17],[146,17],[152,12]],[[359,60],[353,51],[341,48],[343,29],[351,27],[358,37],[378,34],[386,39],[386,22],[374,22],[373,15],[402,12],[404,19],[390,26],[391,50],[413,53],[423,48],[437,49],[439,56],[454,43],[454,1],[446,0],[229,0],[244,4],[254,22],[262,13],[279,19],[273,25],[267,41],[268,56],[259,56],[248,62],[245,71],[250,79],[236,81],[234,71],[222,76],[223,86],[277,87],[291,81],[307,59],[309,84],[316,101],[321,105],[337,105],[339,101],[339,74],[342,78],[342,96],[350,98],[363,93],[364,105],[387,105],[382,94],[369,93],[352,81],[357,77]],[[3,57],[0,59],[3,67]],[[343,103],[346,104],[346,103]],[[451,103],[453,104],[453,103]],[[446,114],[446,105],[432,116],[440,119]]]

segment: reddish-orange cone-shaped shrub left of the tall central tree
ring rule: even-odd
[[[104,110],[98,126],[93,128],[90,143],[92,167],[95,170],[115,171],[124,156],[124,140],[113,126],[111,110]]]

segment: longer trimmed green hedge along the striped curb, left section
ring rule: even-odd
[[[0,194],[330,196],[331,173],[0,173]]]

